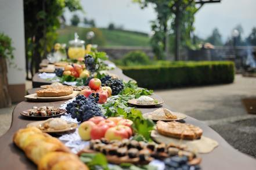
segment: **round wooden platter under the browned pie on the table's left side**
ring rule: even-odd
[[[59,96],[59,97],[38,97],[37,93],[24,96],[26,100],[28,101],[34,101],[34,102],[55,102],[60,100],[68,100],[73,99],[75,96],[79,94],[78,91],[73,91],[72,94],[66,95],[66,96]]]

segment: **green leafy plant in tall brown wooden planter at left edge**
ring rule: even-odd
[[[13,60],[13,46],[12,39],[7,35],[0,33],[0,108],[8,107],[12,104],[8,92],[8,79],[7,79],[7,64],[12,63]]]

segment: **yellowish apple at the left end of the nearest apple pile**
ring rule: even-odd
[[[96,126],[92,121],[82,122],[78,128],[78,134],[82,140],[90,140],[91,139],[91,131],[93,126]]]

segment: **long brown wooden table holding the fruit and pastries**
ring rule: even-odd
[[[121,73],[120,69],[115,69],[111,73],[117,74],[119,77],[129,80]],[[34,89],[31,92],[35,91]],[[154,95],[153,97],[158,97]],[[33,106],[55,106],[59,107],[65,101],[35,103],[35,102],[21,102],[17,104],[13,110],[12,124],[8,132],[0,138],[0,169],[36,169],[37,167],[26,158],[26,155],[12,142],[13,134],[20,128],[34,120],[28,120],[21,117],[20,112],[27,110]],[[163,107],[168,108],[165,104]],[[142,113],[153,111],[156,108],[139,108]],[[199,126],[203,129],[203,135],[208,138],[217,140],[219,146],[211,153],[200,154],[203,158],[200,166],[202,169],[256,169],[256,160],[246,154],[240,153],[232,146],[230,146],[217,132],[212,130],[209,126],[205,125],[192,117],[185,119],[185,122]]]

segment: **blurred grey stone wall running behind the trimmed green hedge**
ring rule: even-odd
[[[125,54],[134,50],[142,50],[148,56],[153,58],[154,53],[150,47],[141,46],[117,46],[117,47],[99,47],[99,51],[104,51],[111,60],[121,59]],[[232,60],[236,63],[236,68],[243,67],[248,57],[253,57],[252,52],[256,51],[256,46],[215,46],[214,49],[200,50],[181,50],[181,60],[201,61],[201,60]],[[170,55],[168,60],[174,60],[174,55]]]

